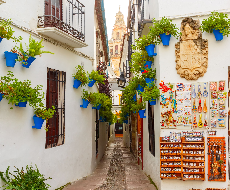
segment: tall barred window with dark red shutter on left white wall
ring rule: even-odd
[[[46,148],[64,144],[65,140],[65,84],[66,73],[47,68],[46,107],[55,107],[54,116],[46,127]]]

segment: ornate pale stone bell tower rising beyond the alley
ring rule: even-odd
[[[119,64],[121,57],[121,48],[123,44],[123,36],[126,33],[124,15],[120,11],[116,14],[115,24],[113,26],[112,38],[109,40],[109,54],[112,67],[116,77],[120,77]]]

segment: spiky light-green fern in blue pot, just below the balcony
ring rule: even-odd
[[[51,53],[54,54],[50,51],[43,51],[41,50],[44,46],[42,45],[42,41],[36,41],[33,39],[30,35],[29,38],[29,45],[26,45],[26,49],[24,50],[22,43],[20,43],[20,46],[15,46],[15,48],[18,50],[18,59],[17,61],[22,63],[22,66],[25,68],[29,68],[31,63],[36,59],[35,56],[43,53]]]

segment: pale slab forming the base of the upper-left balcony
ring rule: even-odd
[[[36,31],[41,35],[48,36],[73,48],[82,48],[88,46],[85,42],[82,42],[81,40],[76,39],[75,37],[55,27],[38,28]]]

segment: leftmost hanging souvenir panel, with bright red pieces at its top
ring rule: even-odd
[[[162,129],[176,128],[177,103],[175,99],[175,84],[161,82],[160,86],[160,125]]]

